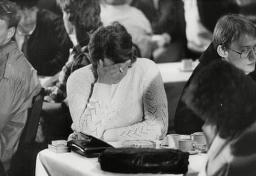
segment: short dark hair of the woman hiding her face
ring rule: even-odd
[[[136,60],[136,50],[133,48],[132,37],[119,22],[96,30],[88,45],[91,62],[97,67],[97,62],[105,57],[115,63]]]

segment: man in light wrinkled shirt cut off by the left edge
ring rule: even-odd
[[[33,96],[41,91],[35,69],[12,41],[20,15],[17,5],[0,1],[0,160],[9,170]]]

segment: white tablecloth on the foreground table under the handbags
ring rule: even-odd
[[[156,141],[157,146],[161,141]],[[111,143],[115,147],[119,147],[120,143]],[[204,163],[205,154],[189,155],[189,171],[186,175],[197,175]],[[51,173],[51,174],[50,174]],[[86,158],[75,152],[66,152],[57,154],[45,149],[37,155],[36,176],[46,175],[172,175],[172,174],[115,174],[102,171],[98,158]]]

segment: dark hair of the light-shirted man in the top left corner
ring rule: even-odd
[[[0,19],[7,22],[8,28],[17,28],[21,15],[19,9],[14,2],[7,0],[0,1]]]

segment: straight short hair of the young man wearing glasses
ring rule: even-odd
[[[215,26],[213,45],[215,49],[221,45],[223,50],[227,50],[232,41],[239,40],[244,34],[256,38],[256,26],[253,22],[238,14],[224,15]]]

